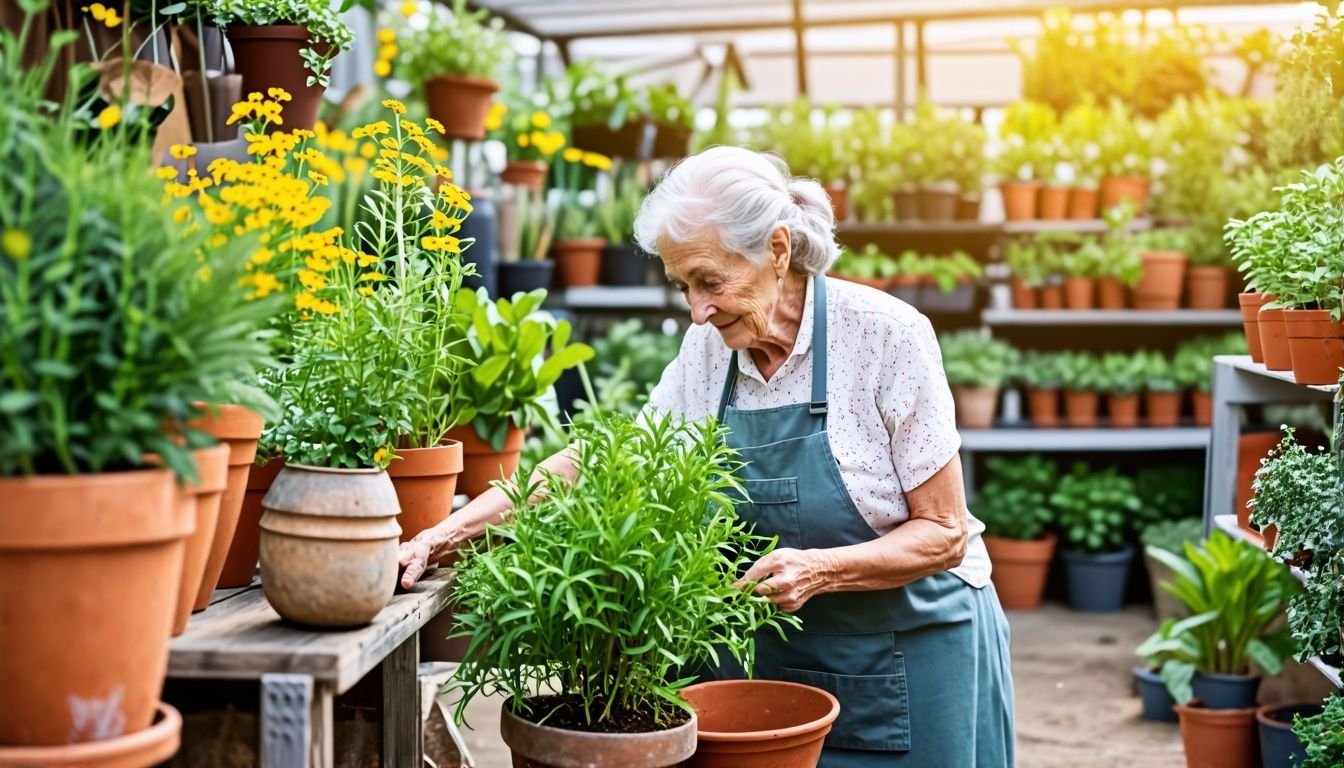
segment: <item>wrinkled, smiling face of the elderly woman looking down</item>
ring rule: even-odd
[[[789,269],[789,230],[770,241],[771,257],[758,265],[724,249],[712,233],[687,242],[659,241],[668,281],[691,304],[691,320],[710,323],[730,350],[763,339],[780,299],[780,278]]]

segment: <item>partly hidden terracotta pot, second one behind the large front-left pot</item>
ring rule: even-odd
[[[218,408],[218,416],[207,414],[191,424],[191,426],[228,445],[228,484],[224,488],[224,495],[219,499],[219,522],[215,527],[215,538],[210,545],[210,558],[206,560],[206,573],[202,576],[200,589],[196,592],[196,611],[206,609],[211,593],[219,584],[219,576],[224,569],[224,561],[234,541],[234,531],[238,529],[238,514],[242,511],[243,492],[247,488],[247,472],[251,471],[253,460],[257,459],[257,441],[265,426],[259,414],[241,405],[220,405]],[[247,580],[251,580],[250,570]]]

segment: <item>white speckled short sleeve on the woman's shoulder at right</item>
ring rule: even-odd
[[[883,370],[891,374],[879,391],[878,408],[891,434],[900,488],[910,492],[957,455],[957,414],[927,317],[892,334],[883,356]]]

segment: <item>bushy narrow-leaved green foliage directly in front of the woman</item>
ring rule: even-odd
[[[593,730],[684,720],[683,670],[723,652],[750,670],[755,632],[797,625],[735,584],[773,542],[737,518],[738,464],[712,421],[601,416],[573,438],[579,479],[504,486],[513,512],[458,568],[457,716],[503,691],[513,712],[544,722],[569,705]]]

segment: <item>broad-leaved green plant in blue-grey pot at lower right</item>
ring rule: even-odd
[[[1163,588],[1191,612],[1163,621],[1137,651],[1164,655],[1163,682],[1177,703],[1193,697],[1196,671],[1245,675],[1254,663],[1277,675],[1284,668],[1293,638],[1273,627],[1297,580],[1282,562],[1220,530],[1200,546],[1187,543],[1184,557],[1156,547],[1148,554],[1175,572]]]

